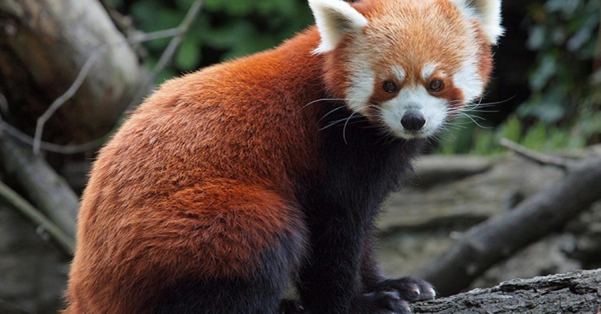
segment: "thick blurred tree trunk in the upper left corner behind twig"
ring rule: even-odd
[[[103,44],[123,41],[96,0],[1,1],[0,94],[7,98],[11,121],[31,134],[37,117],[69,88],[88,58]],[[127,44],[111,47],[50,119],[44,139],[81,143],[102,136],[142,75]]]

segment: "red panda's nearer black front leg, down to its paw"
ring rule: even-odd
[[[360,269],[369,220],[349,210],[327,213],[308,224],[311,259],[301,267],[297,282],[308,313],[407,313],[407,303],[397,292],[362,289]]]

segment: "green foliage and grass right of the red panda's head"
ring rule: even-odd
[[[527,72],[529,99],[494,130],[472,125],[445,136],[439,151],[495,154],[502,151],[498,145],[502,137],[540,150],[580,148],[599,142],[601,70],[593,75],[591,68],[601,4],[597,0],[528,2],[518,5],[527,8],[523,27],[528,41],[524,49],[535,53]]]

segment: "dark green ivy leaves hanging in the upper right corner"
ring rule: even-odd
[[[588,93],[599,25],[597,0],[548,0],[529,10],[528,49],[537,53],[529,70],[532,97],[517,113],[551,123],[576,112]]]

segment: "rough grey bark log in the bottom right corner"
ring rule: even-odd
[[[412,306],[413,313],[600,313],[601,270],[513,279]]]

